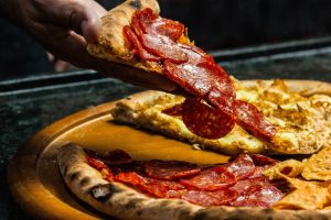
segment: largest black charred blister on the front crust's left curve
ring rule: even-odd
[[[121,193],[122,189],[119,189],[110,184],[97,185],[88,190],[93,198],[105,204],[115,194]]]

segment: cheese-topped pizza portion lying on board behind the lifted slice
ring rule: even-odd
[[[160,91],[134,95],[117,102],[111,110],[115,121],[134,124],[193,146],[237,154],[311,154],[331,145],[331,86],[317,81],[238,81],[232,78],[237,99],[255,105],[276,127],[270,141],[261,141],[235,124],[216,140],[193,134],[180,117],[166,109],[183,101],[183,97]]]

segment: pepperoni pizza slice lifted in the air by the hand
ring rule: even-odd
[[[97,43],[90,54],[111,62],[160,74],[186,91],[181,120],[194,134],[215,140],[241,127],[263,141],[276,129],[247,101],[236,98],[226,72],[212,56],[193,45],[186,29],[177,21],[159,15],[154,0],[128,0],[103,18]]]

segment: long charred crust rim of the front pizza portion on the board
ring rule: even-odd
[[[84,150],[76,144],[58,148],[57,162],[68,188],[96,210],[119,219],[193,220],[193,219],[329,219],[331,211],[275,210],[261,208],[200,207],[180,199],[148,197],[120,183],[103,179],[87,164]]]

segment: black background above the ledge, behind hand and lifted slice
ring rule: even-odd
[[[111,9],[119,0],[98,0]],[[161,15],[181,21],[206,51],[331,35],[330,0],[159,0]],[[54,72],[44,50],[0,20],[0,79]]]

